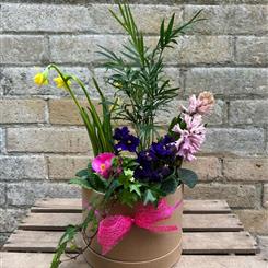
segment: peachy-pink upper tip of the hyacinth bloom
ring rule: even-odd
[[[198,95],[198,97],[196,97],[196,95],[191,95],[189,98],[188,108],[183,107],[183,109],[185,113],[189,115],[194,115],[194,114],[206,115],[211,112],[213,106],[214,106],[213,94],[208,91],[203,91]]]

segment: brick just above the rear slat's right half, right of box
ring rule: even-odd
[[[198,184],[194,189],[185,187],[186,198],[225,199],[232,208],[254,208],[259,202],[254,185]]]

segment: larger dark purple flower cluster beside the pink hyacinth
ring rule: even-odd
[[[176,161],[176,148],[172,145],[174,139],[165,136],[159,142],[138,153],[138,167],[135,178],[148,182],[161,182],[172,174]]]

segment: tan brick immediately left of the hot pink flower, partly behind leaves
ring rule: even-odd
[[[50,179],[70,179],[75,173],[85,168],[89,156],[49,156],[48,171]]]

